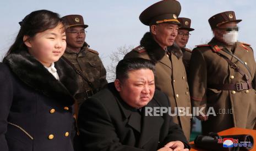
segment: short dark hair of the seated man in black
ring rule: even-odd
[[[119,79],[121,81],[123,79],[128,79],[128,71],[138,69],[150,69],[154,73],[155,63],[151,60],[143,59],[140,57],[123,59],[117,64],[116,79]]]

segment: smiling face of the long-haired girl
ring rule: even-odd
[[[66,49],[66,34],[64,27],[59,24],[55,28],[37,33],[34,37],[24,36],[23,40],[34,56],[44,66],[50,67],[63,55]]]

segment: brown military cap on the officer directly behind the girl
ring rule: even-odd
[[[81,15],[67,15],[63,16],[62,19],[65,21],[67,28],[72,26],[83,26],[84,28],[88,27],[88,25],[84,24],[84,19]]]

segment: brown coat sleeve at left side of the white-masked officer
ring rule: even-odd
[[[204,107],[206,114],[207,65],[199,49],[193,50],[189,64],[189,91],[193,107]]]

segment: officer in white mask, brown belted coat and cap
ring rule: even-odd
[[[193,106],[203,107],[203,133],[230,127],[253,129],[256,120],[256,83],[253,49],[238,42],[234,11],[212,16],[214,38],[194,48],[189,70]],[[205,113],[214,109],[215,115]]]

